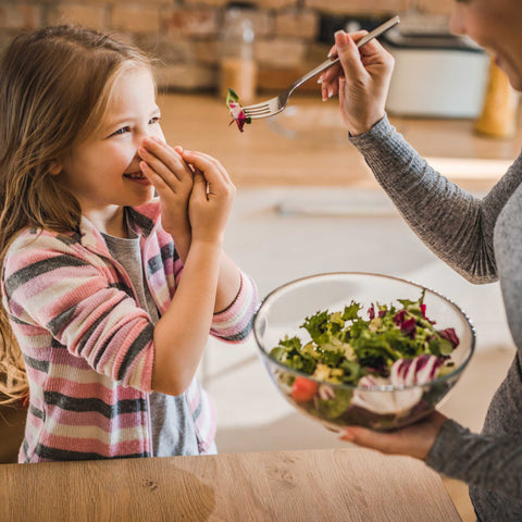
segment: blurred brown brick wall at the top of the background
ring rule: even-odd
[[[323,60],[322,16],[386,16],[417,8],[445,17],[453,0],[249,0],[254,8],[260,90]],[[0,49],[18,32],[73,22],[130,37],[161,59],[159,83],[215,89],[227,0],[0,0]],[[324,38],[323,38],[324,39]]]

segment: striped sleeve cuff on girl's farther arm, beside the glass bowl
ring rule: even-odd
[[[240,276],[241,284],[236,298],[228,308],[214,313],[210,330],[214,337],[227,343],[240,343],[249,336],[259,304],[256,283],[243,272]]]

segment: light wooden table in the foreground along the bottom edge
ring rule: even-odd
[[[0,465],[0,520],[461,519],[424,463],[347,448]]]

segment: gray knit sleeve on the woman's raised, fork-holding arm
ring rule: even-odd
[[[428,248],[472,283],[496,281],[493,232],[498,213],[520,184],[520,157],[480,199],[432,169],[386,116],[369,132],[349,139]]]

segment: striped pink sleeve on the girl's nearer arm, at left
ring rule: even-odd
[[[8,251],[2,282],[22,349],[47,333],[96,372],[150,391],[153,325],[101,261],[54,236],[27,234]]]

